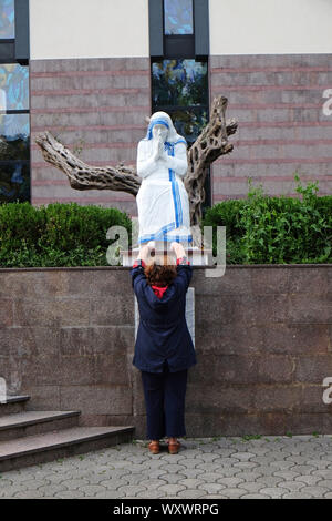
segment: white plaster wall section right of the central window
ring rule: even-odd
[[[332,53],[332,0],[209,0],[210,54]]]

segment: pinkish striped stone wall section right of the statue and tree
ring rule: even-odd
[[[303,184],[319,181],[319,195],[332,191],[332,115],[323,114],[332,88],[331,54],[251,54],[210,58],[210,98],[228,98],[227,118],[239,129],[235,150],[212,167],[212,201],[243,197],[248,177],[269,195],[297,195],[293,172]]]

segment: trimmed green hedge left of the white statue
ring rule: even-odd
[[[132,223],[116,208],[76,203],[0,204],[0,266],[107,266],[111,226]]]

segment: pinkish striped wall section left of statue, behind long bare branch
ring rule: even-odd
[[[42,157],[34,143],[49,130],[90,164],[136,163],[145,115],[151,114],[148,58],[31,60],[31,202],[114,206],[136,215],[124,192],[75,191],[66,176]],[[77,152],[76,152],[77,153]]]

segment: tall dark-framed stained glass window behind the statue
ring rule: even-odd
[[[152,111],[167,112],[189,146],[209,119],[207,9],[205,0],[149,2]],[[204,207],[210,205],[209,172],[205,193]]]

